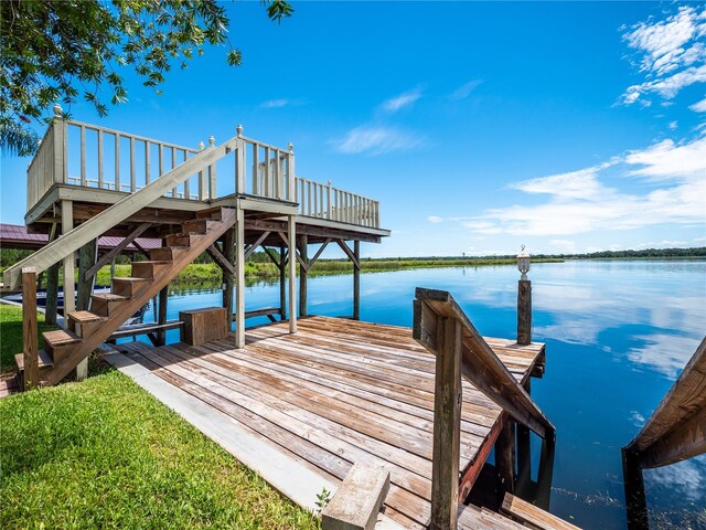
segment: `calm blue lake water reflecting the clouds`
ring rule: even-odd
[[[637,434],[706,333],[706,262],[535,264],[534,340],[546,373],[532,394],[557,427],[552,512],[584,528],[625,527],[620,448]],[[363,274],[361,318],[411,325],[416,286],[450,290],[481,333],[513,338],[514,267]],[[180,309],[221,305],[220,290],[173,294]],[[246,309],[279,305],[277,284],[248,287]],[[309,280],[309,312],[347,316],[352,277]],[[267,321],[248,320],[248,326]],[[178,340],[176,332],[170,332]],[[534,438],[534,437],[533,437]],[[539,443],[533,439],[533,463]],[[644,474],[653,528],[706,528],[706,458]]]

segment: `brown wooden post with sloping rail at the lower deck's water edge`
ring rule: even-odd
[[[436,356],[429,528],[456,528],[461,377],[541,437],[555,428],[448,292],[417,287],[415,296],[414,338]]]

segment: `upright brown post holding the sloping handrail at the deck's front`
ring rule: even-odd
[[[459,504],[461,443],[461,324],[454,318],[437,321],[437,358],[434,383],[434,449],[431,460],[432,530],[454,529]]]

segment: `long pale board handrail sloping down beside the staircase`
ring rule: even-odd
[[[223,158],[235,149],[236,138],[222,144],[218,147],[208,147],[199,155],[176,166],[161,178],[150,182],[140,191],[126,195],[120,201],[104,210],[98,215],[90,218],[77,227],[51,242],[46,246],[34,252],[21,262],[7,268],[3,273],[4,285],[17,288],[20,284],[20,274],[24,267],[34,267],[36,274],[47,269],[60,259],[68,256],[89,241],[95,240],[107,230],[125,221],[130,215],[148,206],[167,191],[179,186],[200,170],[207,168],[216,160]]]

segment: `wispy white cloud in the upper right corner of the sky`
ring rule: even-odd
[[[665,20],[649,20],[623,34],[628,45],[642,56],[645,82],[628,87],[623,103],[630,105],[648,93],[671,99],[694,83],[706,81],[706,9],[681,7]]]

